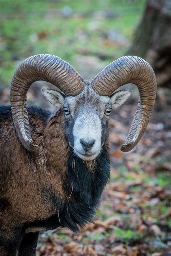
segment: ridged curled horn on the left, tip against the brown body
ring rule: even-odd
[[[22,145],[29,151],[36,151],[37,146],[31,138],[26,94],[31,84],[40,80],[54,84],[66,95],[78,94],[86,83],[70,64],[54,55],[31,56],[18,66],[10,90],[12,118]]]

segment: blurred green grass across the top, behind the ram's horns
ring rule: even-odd
[[[145,0],[1,0],[0,86],[10,85],[21,60],[39,53],[57,55],[75,68],[74,56],[83,48],[110,61],[120,57],[144,5]]]

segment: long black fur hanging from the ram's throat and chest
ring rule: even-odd
[[[75,161],[75,164],[74,164]],[[96,166],[90,171],[85,161],[70,152],[64,190],[72,200],[60,212],[60,226],[73,231],[91,221],[99,200],[110,177],[108,148],[103,146],[96,159]],[[75,171],[74,171],[75,166]]]

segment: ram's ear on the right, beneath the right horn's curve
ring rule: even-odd
[[[130,97],[131,93],[132,93],[132,90],[120,90],[120,91],[114,92],[110,96],[112,108],[120,107]]]

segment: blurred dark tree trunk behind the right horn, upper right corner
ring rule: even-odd
[[[171,88],[171,0],[148,0],[127,55],[145,58],[157,85]]]

